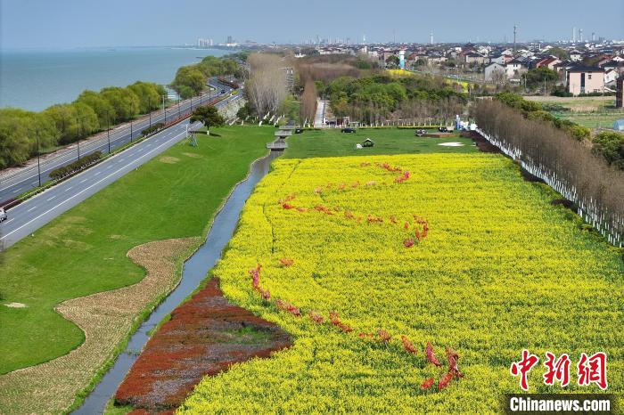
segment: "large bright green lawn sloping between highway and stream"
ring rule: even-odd
[[[230,126],[180,142],[4,252],[0,264],[0,373],[45,362],[83,342],[54,313],[62,301],[140,281],[127,251],[152,240],[200,236],[274,128]]]

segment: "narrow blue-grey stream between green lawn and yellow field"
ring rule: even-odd
[[[182,279],[177,288],[171,291],[168,297],[150,314],[150,318],[136,330],[130,338],[126,350],[119,354],[111,370],[103,376],[93,392],[86,397],[82,406],[73,412],[74,414],[103,413],[111,396],[115,394],[127,372],[138,358],[138,354],[150,339],[149,331],[156,327],[168,313],[171,313],[185,297],[188,297],[206,277],[206,273],[217,264],[223,248],[234,235],[234,229],[245,201],[250,197],[251,191],[260,179],[267,175],[271,161],[280,154],[281,152],[271,151],[269,155],[256,160],[251,165],[250,175],[236,185],[224,207],[215,216],[206,241],[195,251],[193,256],[185,261]]]

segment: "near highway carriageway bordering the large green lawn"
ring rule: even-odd
[[[239,98],[240,95],[229,96],[225,101],[219,102],[218,106],[223,106],[226,102],[232,102]],[[126,151],[121,151],[110,159],[87,168],[84,172],[9,209],[7,220],[0,223],[0,246],[8,248],[18,240],[33,234],[56,216],[73,208],[97,191],[118,180],[119,177],[126,175],[175,143],[180,142],[186,137],[188,124],[188,120],[185,120],[175,126],[170,126]],[[196,123],[193,127],[195,126],[201,126],[201,124]]]

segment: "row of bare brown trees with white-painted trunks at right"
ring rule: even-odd
[[[553,125],[526,119],[498,100],[481,100],[473,114],[490,141],[579,206],[579,214],[615,246],[624,244],[624,171]]]

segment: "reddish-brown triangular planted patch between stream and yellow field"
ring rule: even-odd
[[[175,410],[204,376],[291,346],[275,323],[230,304],[218,278],[171,314],[150,339],[115,395],[138,413]]]

